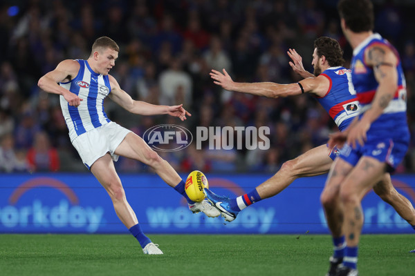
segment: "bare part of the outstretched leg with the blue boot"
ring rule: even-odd
[[[308,150],[299,157],[286,161],[273,177],[257,186],[261,199],[273,197],[300,177],[312,177],[329,172],[333,160],[326,145]]]

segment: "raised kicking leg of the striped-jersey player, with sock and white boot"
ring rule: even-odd
[[[176,170],[174,170],[167,161],[161,158],[157,152],[152,150],[141,137],[133,132],[129,132],[129,134],[124,137],[114,153],[116,155],[141,161],[153,168],[163,181],[185,197],[189,204],[189,208],[193,213],[203,212],[208,217],[218,217],[220,215],[219,211],[208,204],[207,201],[194,202],[190,200],[185,193],[185,181],[181,179]]]

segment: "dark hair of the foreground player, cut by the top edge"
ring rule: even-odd
[[[374,29],[374,5],[370,0],[340,0],[340,18],[352,32],[367,32]]]

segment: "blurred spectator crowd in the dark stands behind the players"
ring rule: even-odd
[[[7,1],[6,1],[7,2]],[[12,1],[13,2],[13,1]],[[222,90],[210,79],[225,68],[234,81],[298,81],[288,48],[312,72],[313,41],[338,39],[349,67],[351,48],[342,37],[330,0],[28,1],[0,6],[0,172],[85,171],[71,145],[59,97],[40,90],[39,77],[63,59],[87,59],[93,41],[114,39],[119,58],[110,74],[133,99],[183,106],[187,121],[141,117],[111,100],[109,119],[142,136],[158,124],[268,126],[269,150],[159,152],[178,172],[276,172],[288,159],[324,144],[337,127],[308,95],[266,99]],[[384,2],[384,3],[383,3]],[[376,5],[376,28],[398,48],[407,80],[409,127],[415,130],[415,6]],[[18,1],[19,3],[19,1]],[[405,22],[405,26],[403,25]],[[398,172],[415,171],[414,135]],[[120,158],[119,172],[146,172]]]

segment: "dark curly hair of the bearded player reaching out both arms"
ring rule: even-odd
[[[317,57],[326,57],[330,66],[343,66],[343,50],[337,40],[330,37],[319,37],[314,41],[314,48],[317,48]]]

